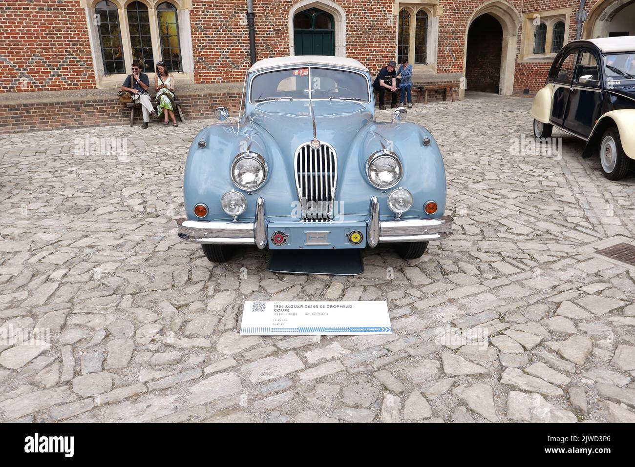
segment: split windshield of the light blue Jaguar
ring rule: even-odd
[[[309,80],[311,82],[309,83]],[[319,67],[299,67],[258,74],[251,81],[251,102],[268,100],[345,99],[368,102],[362,74]]]

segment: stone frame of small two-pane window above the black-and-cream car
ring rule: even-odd
[[[558,10],[532,11],[523,15],[523,32],[521,36],[521,47],[518,55],[518,62],[549,62],[558,55],[558,51],[552,52],[554,26],[556,23],[565,23],[565,39],[563,45],[569,42],[569,26],[572,16],[571,8],[559,8]],[[538,20],[538,22],[537,22]],[[547,27],[547,37],[545,39],[544,53],[534,53],[535,32],[538,24]]]

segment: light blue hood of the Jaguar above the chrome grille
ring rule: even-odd
[[[373,114],[359,102],[313,101],[313,111],[316,138],[330,144],[340,158],[346,157],[354,137],[373,121]],[[260,103],[248,118],[268,133],[269,143],[275,142],[281,154],[291,160],[300,145],[314,138],[309,101]]]

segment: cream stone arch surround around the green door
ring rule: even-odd
[[[309,15],[313,15],[314,13],[318,13],[314,16],[314,22],[312,32],[307,30],[303,30],[305,28],[295,27],[295,20],[298,17],[298,26],[307,25],[307,22],[303,15],[298,16],[298,13],[307,12]],[[324,29],[320,30],[321,27],[327,25],[325,18],[331,19],[330,31],[325,31]],[[315,20],[318,20],[318,27],[316,28]],[[307,51],[304,50],[304,46],[302,46],[302,50],[296,50],[296,32],[299,30],[301,33],[307,33],[305,36],[313,36],[313,34],[317,34],[316,37],[312,37],[312,40],[318,41],[319,35],[324,34],[330,37],[333,41],[331,53],[318,53],[318,55],[335,55],[335,56],[346,56],[346,14],[341,6],[335,3],[332,0],[300,0],[298,3],[293,5],[289,10],[289,55],[306,55]],[[328,39],[327,37],[327,39]],[[303,37],[303,40],[307,37]],[[324,39],[322,37],[321,39]],[[326,43],[328,46],[328,41]],[[321,46],[324,49],[324,44]],[[314,52],[315,53],[315,52]]]

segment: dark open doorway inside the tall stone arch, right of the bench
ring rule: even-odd
[[[469,91],[498,93],[502,48],[503,28],[496,18],[485,14],[472,21],[467,31],[465,60]]]

